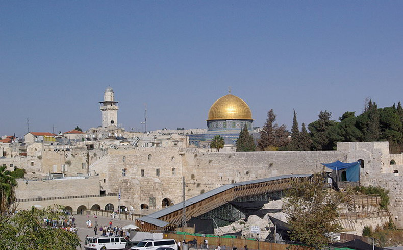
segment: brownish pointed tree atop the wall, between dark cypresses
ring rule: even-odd
[[[267,120],[262,131],[260,131],[260,139],[258,140],[258,149],[261,151],[277,150],[289,144],[289,132],[283,124],[279,126],[274,123],[276,115],[273,109],[267,112]]]

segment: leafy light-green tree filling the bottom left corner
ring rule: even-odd
[[[44,225],[43,218],[65,216],[61,207],[21,210],[15,216],[0,220],[0,249],[76,249],[80,246],[77,234]]]

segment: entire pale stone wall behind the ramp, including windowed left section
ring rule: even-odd
[[[124,160],[123,160],[124,158]],[[321,163],[362,160],[360,184],[390,191],[389,210],[403,228],[403,191],[398,172],[402,155],[389,154],[388,142],[343,142],[335,151],[215,152],[201,148],[135,148],[109,150],[90,166],[106,192],[121,191],[121,204],[135,211],[142,204],[162,208],[163,199],[182,200],[182,176],[186,197],[220,185],[282,174],[305,174],[322,170]],[[392,160],[394,163],[391,165]],[[125,170],[125,176],[122,172]],[[158,172],[157,172],[158,171]],[[396,172],[397,171],[397,172]],[[157,174],[159,173],[159,176]],[[144,176],[142,176],[142,174]]]

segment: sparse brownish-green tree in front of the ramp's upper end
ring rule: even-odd
[[[323,190],[320,174],[315,174],[310,180],[294,183],[286,196],[283,210],[289,216],[291,240],[320,247],[331,242],[326,233],[341,230],[336,222],[341,193]]]

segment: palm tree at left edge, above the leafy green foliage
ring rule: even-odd
[[[17,181],[6,170],[6,166],[0,167],[0,212],[7,211],[10,204],[14,202],[14,188],[17,186]]]

